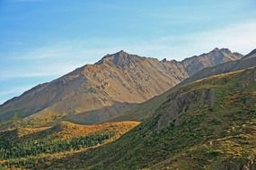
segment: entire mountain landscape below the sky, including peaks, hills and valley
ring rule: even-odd
[[[256,170],[255,94],[255,49],[106,55],[0,106],[0,169]]]

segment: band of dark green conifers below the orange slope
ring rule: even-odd
[[[77,150],[93,147],[110,139],[113,134],[93,134],[71,140],[31,140],[24,143],[12,144],[13,146],[0,149],[0,159],[17,157],[32,157],[40,154],[57,153],[62,151]]]

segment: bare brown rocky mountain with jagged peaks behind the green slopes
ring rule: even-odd
[[[0,121],[12,118],[15,113],[33,123],[63,117],[74,121],[82,118],[83,123],[106,121],[162,94],[207,66],[242,56],[216,48],[208,54],[177,62],[119,51],[5,102],[0,106]]]

